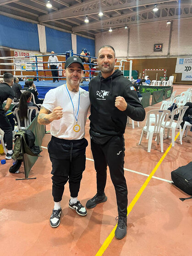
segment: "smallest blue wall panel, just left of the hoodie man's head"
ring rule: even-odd
[[[77,54],[82,52],[82,48],[86,48],[91,56],[95,56],[95,40],[77,35]]]

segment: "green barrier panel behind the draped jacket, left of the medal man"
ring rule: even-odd
[[[35,117],[33,122],[27,127],[27,129],[32,130],[35,135],[35,145],[41,146],[42,140],[45,134],[45,127],[37,122],[38,116]],[[38,156],[30,156],[28,154],[23,154],[23,164],[25,170],[25,178],[28,178],[31,168],[37,161]]]

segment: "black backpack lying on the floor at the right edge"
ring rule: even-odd
[[[188,195],[192,195],[192,162],[177,168],[175,171],[172,171],[171,179],[176,187]],[[184,201],[191,198],[192,196],[188,198],[180,198],[180,200]]]

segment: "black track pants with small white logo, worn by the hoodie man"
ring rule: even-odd
[[[99,145],[91,139],[91,150],[97,175],[97,193],[102,194],[107,179],[107,164],[110,177],[115,187],[118,213],[121,217],[127,215],[127,186],[124,177],[124,137],[114,136],[104,145]]]

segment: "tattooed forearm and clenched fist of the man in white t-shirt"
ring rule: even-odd
[[[49,124],[53,120],[59,120],[63,116],[62,108],[60,106],[55,107],[53,112],[49,111],[45,107],[41,107],[41,110],[38,114],[38,123],[39,124]]]

